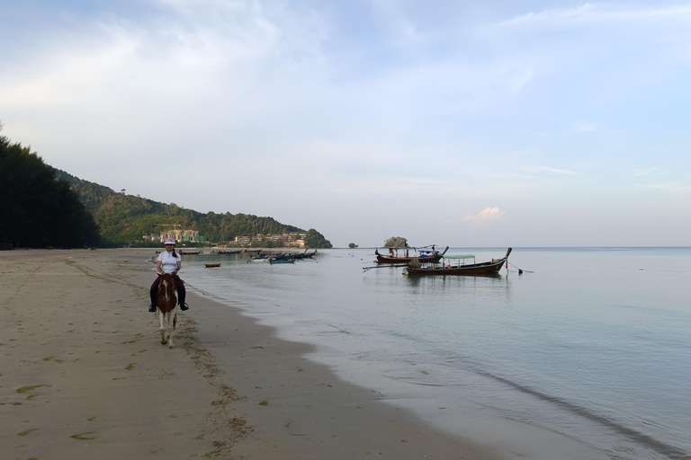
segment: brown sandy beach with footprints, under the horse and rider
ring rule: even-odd
[[[0,252],[4,458],[498,458],[193,289],[161,345],[153,255]]]

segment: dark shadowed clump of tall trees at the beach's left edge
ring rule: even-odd
[[[0,248],[102,243],[94,217],[55,176],[29,147],[0,136]]]

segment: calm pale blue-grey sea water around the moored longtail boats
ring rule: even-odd
[[[505,252],[449,250],[478,261]],[[691,248],[517,248],[509,261],[534,273],[509,267],[496,278],[363,272],[373,259],[187,256],[184,278],[452,431],[453,417],[435,411],[518,420],[601,458],[691,458]]]

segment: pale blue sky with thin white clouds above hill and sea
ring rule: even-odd
[[[691,3],[0,0],[2,134],[335,246],[691,245]]]

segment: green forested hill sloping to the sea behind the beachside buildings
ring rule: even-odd
[[[304,232],[296,226],[287,226],[272,217],[248,214],[202,214],[193,209],[180,208],[175,203],[160,203],[152,199],[127,195],[103,185],[84,181],[64,171],[56,170],[58,180],[67,181],[79,200],[93,214],[100,227],[103,241],[109,244],[141,245],[142,235],[161,231],[163,226],[180,225],[198,230],[207,241],[223,243],[236,236],[255,234],[283,234]],[[330,248],[331,243],[315,229],[307,232],[305,243],[310,248]],[[160,244],[160,243],[156,243]]]

